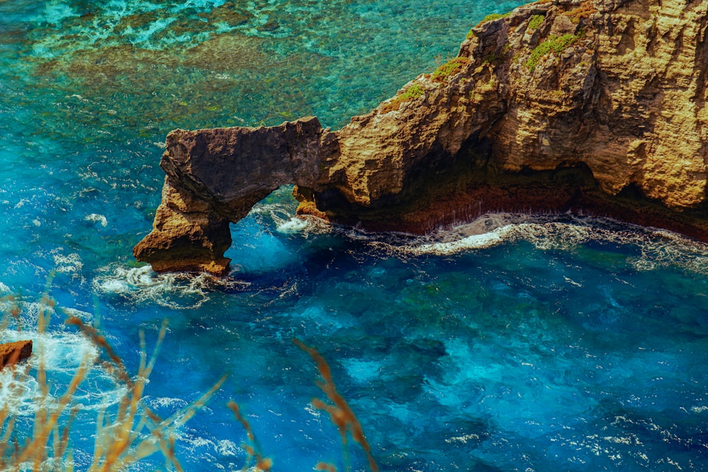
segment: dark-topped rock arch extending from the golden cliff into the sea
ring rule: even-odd
[[[224,275],[229,221],[282,185],[313,186],[333,155],[336,137],[314,117],[276,127],[171,132],[160,162],[162,202],[135,258],[158,272]]]

